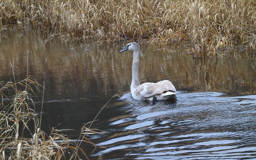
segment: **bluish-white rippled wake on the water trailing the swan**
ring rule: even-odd
[[[180,93],[175,102],[131,100],[128,104],[123,115],[109,119],[104,130],[109,134],[98,137],[98,145],[107,149],[99,149],[94,156],[156,160],[256,157],[255,95]]]

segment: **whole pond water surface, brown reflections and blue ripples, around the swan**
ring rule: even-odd
[[[59,39],[2,30],[0,83],[14,81],[12,67],[16,81],[26,78],[28,59],[28,74],[45,81],[43,130],[73,129],[64,133],[72,139],[123,95],[93,123],[103,133],[88,138],[104,148],[83,144],[90,159],[256,159],[255,53],[193,57],[186,44],[140,44],[140,82],[168,79],[178,90],[176,100],[153,104],[131,98],[132,54],[119,54],[124,45]]]

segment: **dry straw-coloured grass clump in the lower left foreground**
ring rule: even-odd
[[[38,90],[39,87],[34,78],[29,76],[18,83],[8,82],[0,88],[0,159],[58,160],[66,157],[67,152],[73,152],[73,157],[80,159],[77,153],[81,151],[85,155],[84,151],[77,141],[63,135],[62,130],[52,128],[49,135],[40,130],[41,120],[35,112],[35,104],[30,94],[35,94],[33,88]],[[7,90],[13,92],[13,96],[6,96],[4,93]],[[83,126],[82,135],[84,128],[87,134],[95,133]],[[85,136],[81,138],[81,141],[93,144]]]

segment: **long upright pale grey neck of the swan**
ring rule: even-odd
[[[140,85],[138,70],[139,70],[139,49],[133,51],[131,92],[133,92]]]

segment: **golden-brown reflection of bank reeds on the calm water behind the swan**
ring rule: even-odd
[[[8,42],[5,41],[6,37]],[[97,95],[110,98],[117,93],[129,92],[132,53],[120,54],[121,46],[90,45],[86,51],[85,47],[70,50],[72,43],[61,43],[53,39],[42,45],[44,38],[45,35],[40,32],[22,32],[17,35],[5,31],[1,35],[2,42],[7,45],[0,46],[0,77],[4,80],[13,77],[10,62],[15,64],[17,79],[26,77],[22,68],[26,68],[24,62],[29,50],[29,74],[34,75],[40,83],[44,79],[41,73],[44,73],[44,61],[47,57],[45,92],[49,97],[67,95],[84,98]],[[76,46],[79,44],[76,43]],[[148,46],[140,43],[140,83],[168,79],[177,89],[255,94],[256,61],[250,52],[236,48],[224,55],[217,53],[217,57],[193,58],[182,53],[183,47],[184,44]],[[61,92],[61,88],[72,92]]]

